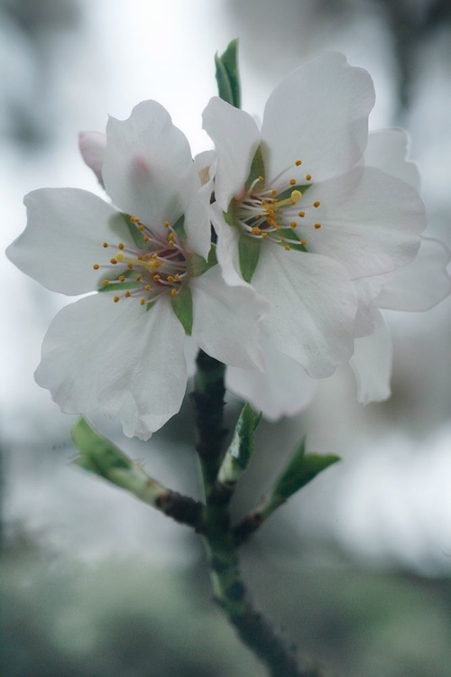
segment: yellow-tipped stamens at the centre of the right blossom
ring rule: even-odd
[[[300,160],[294,163],[296,167],[300,164]],[[301,185],[296,179],[287,178],[289,172],[292,172],[292,165],[268,183],[262,176],[257,177],[244,197],[235,199],[234,205],[235,224],[245,236],[282,245],[287,250],[293,245],[304,248],[306,230],[311,226],[310,218],[305,218],[306,211],[299,211],[299,202],[312,185],[311,174],[305,175],[306,183]],[[312,206],[318,209],[320,204],[316,200]],[[318,229],[321,224],[316,222],[314,227]],[[299,230],[294,233],[296,228]]]

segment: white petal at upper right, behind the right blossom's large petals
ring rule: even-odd
[[[381,129],[368,135],[364,154],[367,167],[376,167],[382,172],[406,181],[419,190],[419,170],[415,162],[407,160],[410,138],[403,129]]]

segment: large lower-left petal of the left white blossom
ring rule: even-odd
[[[186,388],[184,332],[170,302],[95,294],[52,321],[35,378],[65,413],[99,410],[148,439],[179,411]]]

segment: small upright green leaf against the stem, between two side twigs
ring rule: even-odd
[[[260,422],[252,406],[246,402],[235,425],[234,435],[219,469],[218,480],[223,484],[235,484],[248,467],[253,456],[253,437]]]

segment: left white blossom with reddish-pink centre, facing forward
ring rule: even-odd
[[[109,119],[106,144],[80,142],[121,211],[85,190],[35,190],[7,254],[53,291],[97,291],[52,321],[38,384],[65,413],[99,410],[146,440],[179,411],[187,334],[227,364],[261,365],[262,303],[227,286],[210,249],[214,153],[193,162],[163,107],[145,101],[127,120]]]

